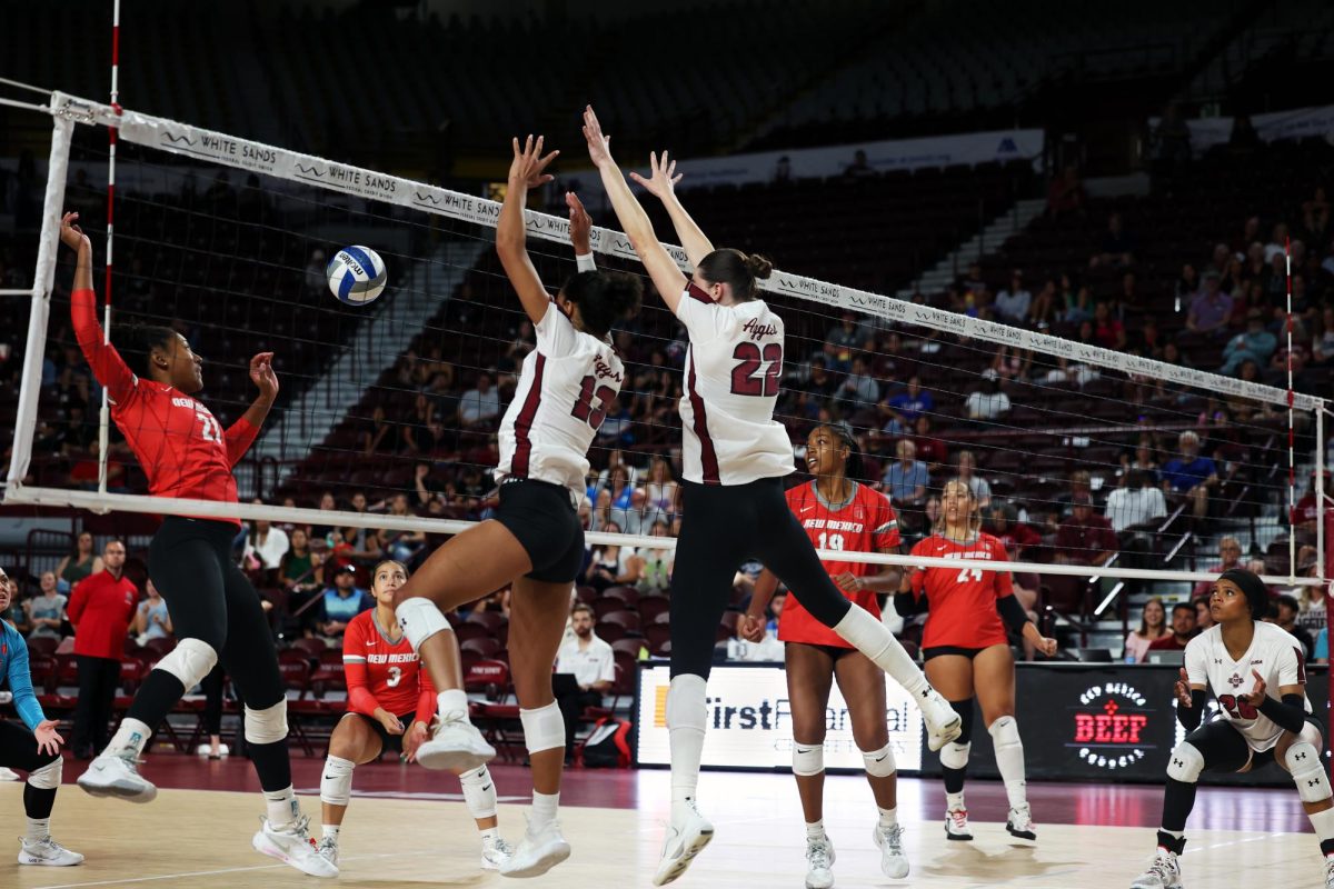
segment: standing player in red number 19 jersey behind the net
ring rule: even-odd
[[[806,440],[806,466],[815,478],[788,488],[787,506],[819,549],[896,553],[899,524],[894,508],[888,497],[848,477],[858,474],[858,464],[852,436],[840,427],[816,427]],[[870,562],[823,564],[852,604],[876,618],[880,617],[879,596],[896,590],[902,577],[898,568]],[[742,624],[744,638],[758,642],[764,637],[764,609],[776,589],[778,577],[764,569]],[[786,642],[787,694],[792,702],[792,774],[806,816],[807,889],[834,885],[834,845],[824,833],[823,792],[826,708],[835,678],[880,810],[874,837],[880,849],[880,869],[896,880],[908,876],[896,813],[894,749],[884,725],[884,672],[815,620],[802,606],[800,590],[790,590],[787,596],[778,638]]]

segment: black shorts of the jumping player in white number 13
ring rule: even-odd
[[[532,570],[544,584],[571,584],[583,566],[583,525],[574,496],[564,485],[536,478],[500,482],[500,506],[491,517],[519,541]]]

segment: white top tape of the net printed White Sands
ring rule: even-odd
[[[495,228],[496,220],[500,216],[500,204],[496,201],[360,167],[336,164],[323,157],[301,155],[285,148],[237,139],[152,115],[116,109],[111,105],[75,99],[64,93],[53,95],[52,107],[55,108],[53,113],[71,115],[83,123],[117,127],[120,139],[173,155],[196,157],[212,164],[263,173],[275,179],[300,181],[367,200],[410,207],[426,213],[446,216],[487,228]],[[568,219],[527,211],[526,221],[528,235],[532,237],[570,244]],[[599,253],[638,260],[630,239],[622,232],[594,227],[591,241],[594,251]],[[691,268],[684,249],[672,244],[663,244],[663,247],[680,268]],[[839,284],[830,284],[790,272],[775,271],[768,279],[760,283],[760,287],[771,293],[782,293],[799,300],[820,303],[840,311],[847,309],[863,315],[874,315],[899,324],[916,324],[998,345],[1045,352],[1057,357],[1119,371],[1127,375],[1157,377],[1177,385],[1210,389],[1267,404],[1289,404],[1287,392],[1277,387],[1246,383],[1218,373],[1207,373],[1153,359],[1123,355],[1113,349],[1085,345],[1047,333],[1022,331],[1006,324],[967,317],[944,309],[919,305],[868,291],[858,291]],[[1310,395],[1298,395],[1294,400],[1294,407],[1302,411],[1313,411],[1319,404],[1322,404],[1322,400]]]

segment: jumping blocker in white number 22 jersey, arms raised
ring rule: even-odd
[[[636,176],[636,181],[666,205],[695,267],[687,279],[658,243],[592,108],[584,111],[584,139],[635,253],[690,335],[680,400],[684,520],[671,578],[672,814],[654,876],[654,885],[662,886],[680,877],[714,836],[714,826],[695,808],[707,721],[704,686],[732,576],[746,560],[759,558],[790,589],[800,590],[802,605],[816,621],[912,694],[932,750],[959,736],[960,718],[884,624],[839,592],[787,508],[782,478],[796,466],[787,431],[774,420],[783,375],[783,320],[759,299],[759,279],[774,267],[762,256],[715,251],[672,191],[675,165],[666,155],[659,164],[655,155],[652,179]]]

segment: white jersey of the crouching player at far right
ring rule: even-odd
[[[1279,688],[1306,685],[1306,656],[1302,644],[1287,630],[1257,621],[1251,646],[1237,661],[1223,645],[1223,630],[1219,625],[1210,626],[1186,645],[1186,676],[1190,684],[1210,686],[1218,698],[1222,718],[1241,732],[1253,750],[1263,752],[1278,744],[1283,729],[1238,700],[1255,688],[1251,670],[1265,677],[1266,694],[1281,698]],[[1311,702],[1306,700],[1305,690],[1302,700],[1306,712],[1310,713]]]

